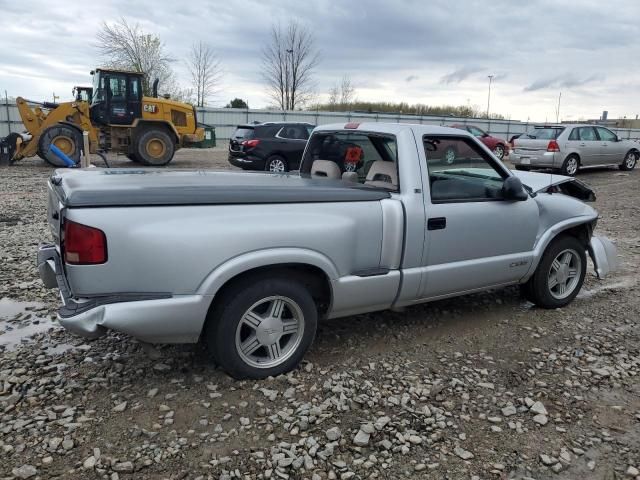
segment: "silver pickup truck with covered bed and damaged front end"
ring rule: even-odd
[[[458,129],[327,125],[299,173],[69,170],[48,188],[38,266],[60,323],[203,341],[238,378],[294,368],[322,318],[513,284],[562,307],[586,252],[599,276],[616,265],[586,185],[511,172]]]

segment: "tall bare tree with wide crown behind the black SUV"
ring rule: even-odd
[[[320,61],[311,32],[289,21],[271,29],[271,38],[262,52],[262,75],[269,96],[282,110],[302,107],[313,96],[313,70]]]

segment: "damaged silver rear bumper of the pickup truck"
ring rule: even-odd
[[[200,338],[210,297],[127,293],[74,298],[55,246],[41,246],[37,263],[45,287],[60,290],[58,321],[70,332],[98,338],[115,330],[150,343],[195,343]]]

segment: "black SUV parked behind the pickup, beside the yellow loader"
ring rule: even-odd
[[[244,170],[297,170],[313,128],[292,122],[238,125],[229,139],[229,163]]]

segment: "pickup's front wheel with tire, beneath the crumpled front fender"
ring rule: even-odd
[[[522,286],[530,302],[542,308],[560,308],[576,297],[587,272],[586,248],[580,241],[562,235],[549,244],[535,273]]]

